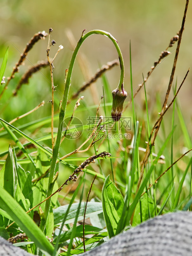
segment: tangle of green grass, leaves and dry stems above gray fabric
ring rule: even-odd
[[[50,42],[52,28],[49,33],[39,32],[33,36],[7,80],[3,78],[8,59],[6,51],[0,69],[0,99],[7,102],[0,117],[0,227],[9,241],[17,241],[23,246],[25,239],[24,249],[32,254],[80,254],[148,218],[190,209],[192,158],[188,153],[192,143],[177,100],[189,70],[177,85],[178,89],[175,85],[174,96],[169,100],[187,6],[188,1],[181,29],[168,45],[169,48],[177,42],[164,102],[162,107],[158,101],[153,106],[159,109],[155,116],[149,109],[147,79],[170,55],[168,48],[161,52],[146,78],[142,75],[143,81],[135,90],[130,47],[130,102],[126,102],[127,89],[124,89],[123,56],[116,39],[108,32],[93,30],[84,34],[83,31],[65,71],[65,79],[60,81],[64,83],[64,93],[55,85],[53,76],[53,63],[63,46],[59,46],[51,59],[56,44],[55,40]],[[71,76],[78,50],[93,34],[107,36],[112,41],[119,61],[102,66],[95,76],[74,91]],[[34,43],[47,36],[47,60],[26,70],[19,79],[14,78]],[[119,85],[111,95],[105,72],[119,64]],[[25,83],[30,86],[31,77],[35,79],[35,73],[48,66],[51,107],[46,108],[48,105],[42,93],[41,103],[34,106],[34,98],[29,104],[30,110],[23,109],[19,116],[13,113],[14,119],[7,120],[7,111],[14,99],[21,101],[22,108],[23,95],[28,90]],[[87,99],[79,97],[80,93],[100,77],[103,85],[103,91],[99,92],[101,100],[97,106],[88,106]],[[72,95],[69,95],[70,86]],[[140,92],[143,87],[144,92]],[[58,98],[57,92],[62,94],[62,99]],[[141,114],[135,104],[139,92],[145,95],[145,108],[140,109]],[[33,95],[36,95],[35,90],[31,92]],[[90,93],[90,97],[94,94]],[[128,108],[131,102],[132,109]],[[42,111],[39,116],[38,111]],[[167,111],[172,111],[170,128]],[[182,147],[187,147],[182,154],[176,139],[179,136],[185,139]]]

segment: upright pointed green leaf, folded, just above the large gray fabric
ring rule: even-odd
[[[109,176],[106,178],[102,189],[102,206],[107,231],[109,238],[111,238],[116,234],[116,228],[123,211],[124,200],[119,190],[109,179]]]

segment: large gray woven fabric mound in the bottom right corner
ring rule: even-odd
[[[83,256],[192,256],[192,212],[158,216]]]

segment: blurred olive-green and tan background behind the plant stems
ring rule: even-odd
[[[130,41],[132,48],[133,85],[134,88],[137,88],[137,85],[142,81],[142,73],[144,77],[147,76],[147,72],[150,71],[154,61],[159,58],[161,51],[166,49],[170,39],[180,29],[185,8],[185,1],[181,0],[1,0],[0,2],[0,62],[2,62],[7,46],[9,46],[9,59],[5,75],[10,75],[12,66],[18,61],[20,52],[23,51],[33,34],[43,30],[48,32],[49,28],[52,27],[51,38],[57,44],[54,49],[52,48],[50,55],[54,56],[59,45],[62,44],[64,46],[64,50],[59,53],[55,60],[54,69],[55,85],[58,84],[60,92],[63,92],[64,71],[69,66],[73,50],[66,36],[67,30],[73,33],[76,41],[80,38],[85,28],[87,31],[102,29],[110,32],[118,40],[123,53],[126,68],[125,88],[130,93]],[[191,14],[192,6],[190,3],[176,68],[178,85],[180,85],[187,69],[191,66]],[[156,100],[154,97],[156,92],[159,92],[162,97],[166,93],[175,55],[175,47],[176,44],[170,48],[170,51],[173,51],[173,53],[158,66],[147,81],[149,108],[151,107],[152,110],[154,107],[153,102]],[[28,55],[28,61],[25,62],[25,66],[21,66],[20,73],[16,74],[14,81],[11,81],[9,92],[7,90],[0,102],[0,109],[5,108],[7,97],[15,88],[27,67],[35,64],[38,60],[46,59],[46,48],[47,39],[41,40],[34,46]],[[91,70],[92,75],[96,72],[99,65],[106,64],[108,61],[118,57],[115,47],[110,40],[97,35],[88,38],[80,52],[88,59],[88,68]],[[72,75],[70,95],[85,81],[85,78],[79,71],[80,67],[76,64]],[[49,70],[42,70],[42,74],[36,74],[35,78],[31,78],[30,85],[24,85],[23,89],[19,92],[20,96],[24,96],[22,97],[22,106],[18,98],[12,99],[11,103],[6,105],[6,112],[8,114],[5,113],[4,118],[7,121],[19,114],[23,114],[24,109],[26,111],[30,110],[32,106],[29,106],[29,101],[33,102],[34,104],[32,105],[35,107],[42,100],[45,100],[46,104],[50,100],[50,82],[44,77],[47,76],[49,78]],[[107,72],[111,90],[118,85],[119,75],[119,67],[115,67]],[[190,73],[179,95],[180,104],[184,116],[187,118],[187,123],[190,123],[192,116],[190,107],[192,97],[191,80],[192,74]],[[102,95],[102,82],[98,81],[93,86],[97,88],[99,100],[99,96]],[[60,92],[58,94],[56,92],[58,100],[62,99]],[[88,91],[83,94],[87,105],[89,105],[89,102],[92,103],[89,93]],[[127,101],[129,99],[130,95]],[[144,91],[142,90],[136,98],[136,103],[138,107],[142,107],[144,102]],[[12,114],[13,110],[14,114]],[[45,108],[40,111],[45,111]],[[41,116],[40,111],[37,114],[38,116]],[[47,111],[50,111],[50,105]],[[34,117],[36,118],[35,115]]]

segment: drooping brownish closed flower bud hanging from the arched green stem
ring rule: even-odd
[[[112,91],[113,105],[111,109],[111,117],[116,122],[119,121],[123,112],[123,103],[127,97],[127,92],[121,85],[121,90],[118,88]]]

